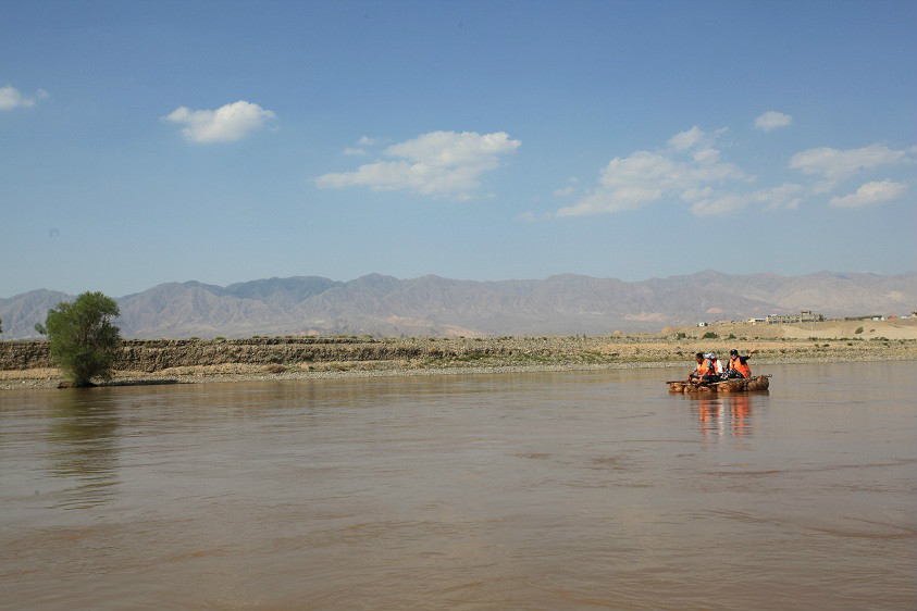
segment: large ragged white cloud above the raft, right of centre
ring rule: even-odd
[[[649,205],[665,197],[695,202],[696,214],[727,212],[735,202],[714,198],[714,186],[745,182],[749,177],[732,163],[721,161],[715,140],[724,133],[708,134],[695,126],[672,136],[668,148],[637,151],[608,162],[598,186],[577,203],[561,208],[558,216],[614,213]]]

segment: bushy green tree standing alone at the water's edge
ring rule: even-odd
[[[109,379],[117,349],[117,303],[101,292],[84,292],[73,303],[62,302],[48,311],[45,326],[35,328],[48,336],[51,360],[73,381],[90,386],[92,378]]]

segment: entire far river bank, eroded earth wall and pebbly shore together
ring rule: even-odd
[[[840,323],[843,323],[841,321]],[[856,327],[851,326],[855,324]],[[532,371],[693,367],[694,353],[757,348],[753,369],[772,363],[917,360],[917,321],[834,325],[667,327],[658,334],[587,337],[253,337],[125,340],[108,384],[251,382]],[[806,337],[801,334],[808,333]],[[848,333],[848,336],[843,335]],[[865,336],[865,338],[864,338]],[[0,388],[50,388],[61,381],[45,341],[0,341]]]

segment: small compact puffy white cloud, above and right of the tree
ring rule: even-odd
[[[182,136],[189,142],[232,142],[260,129],[276,115],[258,104],[239,100],[216,110],[179,107],[163,121],[184,124]]]

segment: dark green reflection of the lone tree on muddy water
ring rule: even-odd
[[[117,403],[89,389],[60,392],[50,401],[48,470],[72,482],[60,507],[86,509],[111,500],[119,483]]]

